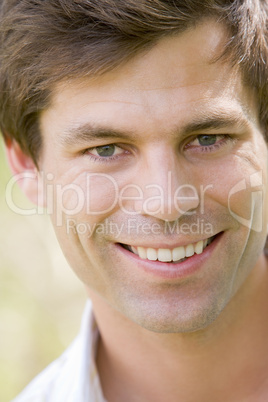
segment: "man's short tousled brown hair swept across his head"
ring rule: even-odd
[[[100,75],[215,16],[268,128],[267,0],[0,0],[0,127],[37,164],[38,114],[56,82]]]

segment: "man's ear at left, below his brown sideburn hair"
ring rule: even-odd
[[[16,141],[6,141],[6,154],[16,183],[35,205],[44,207],[41,175],[33,160],[26,155]]]

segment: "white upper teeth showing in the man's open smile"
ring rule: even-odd
[[[142,246],[132,246],[119,243],[121,247],[137,255],[142,260],[160,261],[165,263],[178,264],[192,257],[194,254],[202,254],[218,235],[200,240],[196,243],[189,243],[185,246],[175,248],[152,248]]]

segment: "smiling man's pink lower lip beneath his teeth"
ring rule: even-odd
[[[194,254],[180,263],[166,263],[160,261],[143,260],[138,255],[126,250],[119,244],[116,247],[130,261],[133,261],[138,269],[161,279],[186,279],[189,276],[198,274],[205,267],[214,249],[217,247],[223,233],[215,237],[213,242],[207,246],[202,254]]]

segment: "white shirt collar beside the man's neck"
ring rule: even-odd
[[[13,402],[105,402],[95,365],[98,336],[88,301],[77,338]]]

